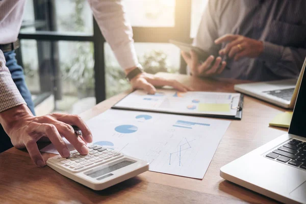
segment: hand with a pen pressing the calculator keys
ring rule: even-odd
[[[53,113],[40,117],[33,116],[26,105],[19,105],[0,113],[0,123],[11,138],[16,148],[27,148],[32,161],[38,166],[45,166],[37,147],[37,141],[45,136],[55,145],[64,158],[70,156],[64,136],[81,155],[88,154],[86,142],[92,142],[92,135],[85,122],[78,115]],[[77,136],[71,125],[82,131]]]

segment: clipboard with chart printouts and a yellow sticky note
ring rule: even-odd
[[[150,111],[183,115],[203,115],[235,118],[241,113],[243,97],[240,93],[220,92],[177,92],[157,90],[155,94],[136,90],[122,100],[113,109]],[[241,119],[238,114],[237,119]]]

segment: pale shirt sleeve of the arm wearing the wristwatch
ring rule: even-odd
[[[138,64],[134,47],[133,31],[127,20],[122,1],[88,0],[99,28],[110,44],[123,69]]]

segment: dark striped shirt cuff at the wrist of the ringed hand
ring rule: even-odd
[[[263,61],[276,62],[282,58],[283,46],[271,42],[263,42],[263,53],[258,56]]]

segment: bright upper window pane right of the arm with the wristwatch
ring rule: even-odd
[[[123,4],[134,27],[174,27],[175,0],[125,0]]]

